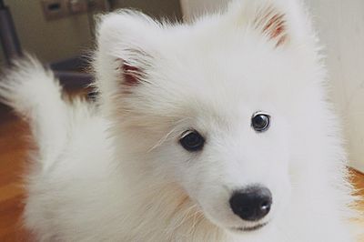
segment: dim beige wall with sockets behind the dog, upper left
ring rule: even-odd
[[[22,47],[54,62],[83,54],[93,45],[93,17],[131,7],[158,18],[182,18],[179,0],[5,0]],[[4,62],[4,55],[1,56]]]

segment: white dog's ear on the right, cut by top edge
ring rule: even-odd
[[[237,25],[257,30],[276,46],[307,36],[308,18],[298,0],[233,1],[228,11]]]

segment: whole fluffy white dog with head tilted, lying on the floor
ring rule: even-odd
[[[98,105],[34,59],[2,80],[38,152],[41,241],[349,242],[345,153],[296,1],[234,1],[191,25],[100,18]]]

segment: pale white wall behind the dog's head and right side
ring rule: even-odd
[[[350,165],[364,172],[364,1],[305,0],[326,46],[331,97],[343,120]],[[181,0],[185,19],[228,0]]]

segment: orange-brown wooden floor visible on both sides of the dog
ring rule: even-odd
[[[27,133],[25,122],[0,106],[0,242],[31,241],[20,226],[24,197],[20,176],[25,171]],[[364,176],[355,171],[353,175],[353,183],[364,195]],[[360,209],[364,211],[364,203]],[[362,226],[364,230],[364,223]],[[360,241],[364,242],[364,238]]]

